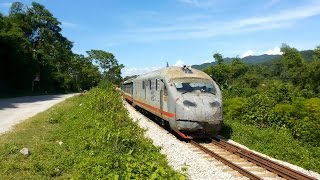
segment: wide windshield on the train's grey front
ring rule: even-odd
[[[177,90],[182,94],[187,92],[206,92],[216,94],[217,91],[210,82],[183,82],[183,81],[174,81],[174,85],[176,86]]]

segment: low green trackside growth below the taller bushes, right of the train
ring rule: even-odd
[[[221,135],[255,151],[320,173],[320,147],[302,144],[288,129],[257,128],[225,119]]]

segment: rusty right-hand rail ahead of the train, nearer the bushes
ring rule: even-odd
[[[316,178],[313,178],[311,176],[308,176],[306,174],[303,174],[299,171],[293,170],[289,167],[286,167],[284,165],[281,165],[277,162],[274,162],[268,158],[265,158],[263,156],[260,156],[258,154],[255,154],[253,152],[250,152],[246,149],[243,149],[241,147],[238,147],[234,144],[231,144],[223,139],[215,138],[212,140],[212,143],[215,145],[218,145],[219,147],[228,150],[229,152],[232,152],[233,154],[236,154],[242,158],[247,159],[248,161],[257,164],[258,166],[261,166],[275,174],[277,174],[280,177],[283,177],[285,179],[289,180],[316,180]]]

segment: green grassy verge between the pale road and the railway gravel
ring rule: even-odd
[[[94,88],[0,136],[1,179],[185,179],[131,121],[119,93]],[[20,149],[31,154],[24,156]]]

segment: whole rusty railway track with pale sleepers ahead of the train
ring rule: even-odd
[[[250,179],[315,180],[315,178],[233,145],[223,139],[190,143]]]

